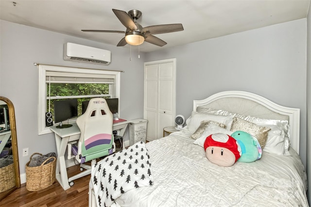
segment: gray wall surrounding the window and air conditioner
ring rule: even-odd
[[[107,70],[124,70],[121,73],[121,117],[143,118],[143,65],[132,57],[128,48],[108,46],[56,32],[40,30],[7,21],[0,21],[0,95],[9,98],[16,112],[17,146],[20,173],[34,152],[56,152],[52,133],[38,136],[38,69],[34,63],[76,66]],[[103,48],[112,53],[111,64],[98,65],[63,60],[63,45],[66,42]],[[29,148],[29,156],[22,157],[22,149]]]

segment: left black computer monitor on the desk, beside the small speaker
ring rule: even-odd
[[[60,124],[57,128],[67,128],[72,125],[63,125],[63,121],[78,116],[78,99],[66,99],[54,101],[54,122]]]

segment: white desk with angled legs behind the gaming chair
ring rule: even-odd
[[[124,121],[113,124],[112,129],[118,130],[121,129],[120,134],[123,135],[125,132],[128,123],[131,121]],[[56,128],[56,126],[50,127],[50,129],[55,134],[55,142],[57,149],[57,161],[56,161],[56,180],[66,191],[70,188],[68,182],[68,175],[65,163],[65,152],[67,149],[68,142],[79,140],[80,138],[80,129],[76,123],[72,123],[72,127],[69,128]],[[124,139],[123,139],[123,149],[124,147]]]

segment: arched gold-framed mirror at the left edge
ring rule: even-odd
[[[0,96],[0,201],[20,187],[15,111]]]

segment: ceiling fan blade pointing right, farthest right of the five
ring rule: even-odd
[[[182,24],[161,24],[142,28],[142,31],[150,34],[163,34],[183,30],[184,28]]]

